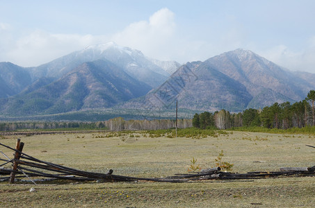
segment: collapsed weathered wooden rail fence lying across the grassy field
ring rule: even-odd
[[[169,177],[159,178],[144,178],[144,177],[129,177],[123,175],[113,175],[113,170],[108,173],[94,173],[89,171],[81,171],[76,168],[70,168],[45,162],[26,153],[22,153],[24,143],[17,139],[16,148],[11,148],[0,143],[0,146],[14,151],[14,158],[10,159],[1,152],[6,159],[1,159],[3,164],[0,164],[0,181],[9,180],[10,183],[15,182],[15,177],[44,177],[60,180],[99,180],[102,182],[133,182],[133,181],[153,181],[153,182],[188,182],[196,180],[241,180],[241,179],[258,179],[266,177],[280,176],[315,176],[315,166],[312,167],[297,167],[297,168],[280,168],[280,171],[275,172],[248,172],[248,173],[229,173],[220,171],[220,168],[208,168],[200,171],[200,173],[192,174],[177,174]],[[13,168],[6,168],[8,164],[12,164]],[[10,175],[9,177],[7,175]],[[35,182],[34,182],[35,183]]]

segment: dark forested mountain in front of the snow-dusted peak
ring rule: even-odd
[[[115,64],[97,60],[81,64],[54,83],[3,99],[0,110],[3,114],[22,115],[112,107],[143,96],[149,90],[150,86],[135,80]]]

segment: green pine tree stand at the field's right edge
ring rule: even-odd
[[[311,90],[307,98],[296,103],[274,103],[262,110],[247,109],[237,114],[226,110],[210,113],[203,112],[193,116],[195,128],[219,128],[262,126],[265,128],[302,128],[315,125],[314,121],[315,91]]]

